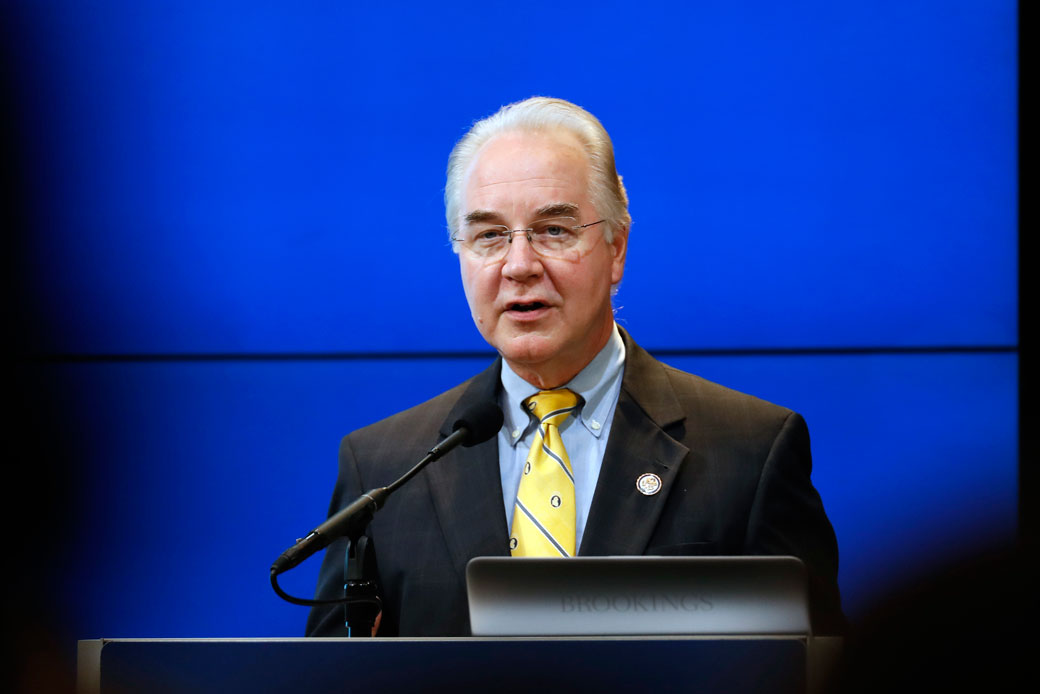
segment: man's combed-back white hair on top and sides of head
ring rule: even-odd
[[[517,130],[564,130],[577,137],[589,162],[589,197],[606,220],[604,238],[609,242],[614,240],[615,231],[628,229],[632,223],[628,214],[628,196],[614,163],[614,145],[602,124],[569,101],[531,97],[502,106],[493,115],[477,121],[451,150],[444,185],[444,213],[449,235],[459,230],[462,222],[463,179],[473,159],[496,135]]]

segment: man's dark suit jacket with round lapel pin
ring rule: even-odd
[[[578,555],[794,555],[810,574],[815,633],[844,620],[837,542],[809,480],[802,417],[657,361],[624,334],[627,358]],[[408,471],[462,410],[498,401],[500,362],[437,397],[346,436],[330,515]],[[646,496],[635,480],[656,473]],[[369,525],[383,595],[380,636],[469,634],[466,563],[508,556],[497,438],[457,448],[390,497]],[[317,597],[342,596],[344,542],[330,545]],[[343,609],[314,608],[308,636],[345,636]]]

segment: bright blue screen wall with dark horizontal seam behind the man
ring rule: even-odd
[[[1014,536],[1015,3],[18,4],[17,344],[57,442],[23,465],[75,518],[30,572],[62,633],[302,634],[267,568],[339,438],[491,357],[443,172],[536,94],[614,138],[619,322],[806,416],[854,620]]]

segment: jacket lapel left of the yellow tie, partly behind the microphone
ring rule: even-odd
[[[498,402],[500,360],[470,381],[441,426],[441,436],[473,403]],[[502,507],[502,483],[498,471],[498,437],[484,443],[460,446],[431,465],[430,493],[451,554],[452,564],[465,575],[473,557],[509,554],[509,533]]]

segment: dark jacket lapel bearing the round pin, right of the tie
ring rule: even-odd
[[[625,375],[579,555],[642,555],[690,453],[668,434],[685,414],[665,366],[627,333],[621,334]],[[647,495],[636,488],[645,473],[660,479],[656,493]]]

